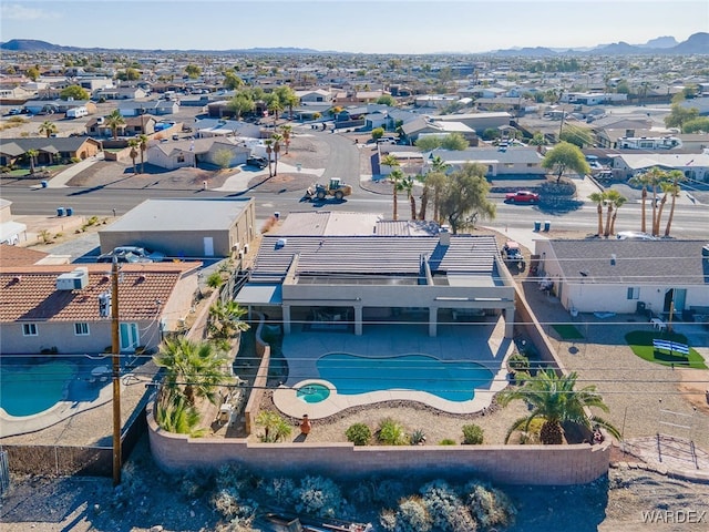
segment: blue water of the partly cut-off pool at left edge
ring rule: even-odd
[[[29,367],[0,367],[0,407],[10,416],[32,416],[64,398],[74,365],[55,361]]]

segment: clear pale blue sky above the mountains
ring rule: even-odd
[[[100,48],[483,52],[709,31],[707,0],[0,0],[0,39]]]

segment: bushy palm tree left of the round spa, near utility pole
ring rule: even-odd
[[[182,393],[193,406],[196,397],[216,403],[217,388],[233,380],[230,371],[226,369],[226,354],[208,342],[194,342],[185,338],[166,340],[153,360],[165,368],[165,388]]]

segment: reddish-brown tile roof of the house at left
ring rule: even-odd
[[[157,317],[157,300],[167,303],[179,278],[202,263],[126,264],[121,267],[119,306],[122,320]],[[56,277],[76,268],[59,266],[0,267],[0,323],[94,321],[99,295],[111,289],[111,265],[90,264],[83,289],[58,290]],[[164,305],[161,307],[164,308]]]

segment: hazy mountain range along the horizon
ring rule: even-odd
[[[0,50],[22,52],[111,52],[116,49],[62,47],[33,39],[12,39],[0,43]],[[130,50],[130,49],[122,49]],[[145,50],[142,50],[145,51]],[[271,54],[318,54],[346,53],[335,51],[314,50],[308,48],[250,48],[238,50],[153,50],[157,52],[195,52],[195,53],[271,53]],[[455,52],[451,52],[455,53]],[[483,54],[483,53],[479,53]],[[548,57],[548,55],[691,55],[709,54],[709,33],[699,32],[686,41],[677,42],[674,37],[658,37],[645,44],[628,44],[620,41],[612,44],[599,44],[583,49],[552,49],[552,48],[511,48],[485,52],[485,55],[504,57]]]

